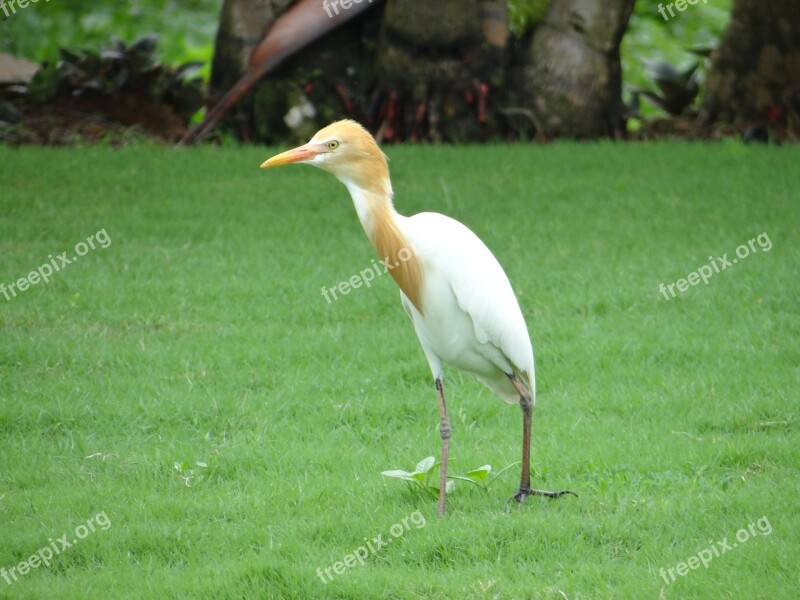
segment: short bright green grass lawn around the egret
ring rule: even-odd
[[[798,149],[387,151],[401,212],[504,265],[533,483],[580,497],[506,512],[515,466],[437,519],[381,476],[438,454],[436,395],[389,276],[321,294],[375,258],[328,174],[260,171],[263,148],[0,148],[0,283],[85,250],[0,295],[0,598],[793,598]],[[519,409],[446,385],[451,473],[519,460]]]

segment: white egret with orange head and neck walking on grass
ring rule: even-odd
[[[531,488],[531,421],[536,383],[533,346],[503,268],[469,228],[448,216],[406,217],[394,207],[388,159],[359,123],[345,119],[320,129],[302,146],[277,154],[262,169],[293,163],[318,167],[350,192],[358,219],[400,288],[433,375],[439,406],[441,462],[438,515],[445,513],[451,424],[444,366],[474,375],[501,399],[522,409],[522,473],[512,500],[558,498],[568,490]]]

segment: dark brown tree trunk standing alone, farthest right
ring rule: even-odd
[[[800,2],[735,0],[713,56],[701,120],[798,130]]]

